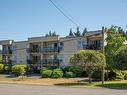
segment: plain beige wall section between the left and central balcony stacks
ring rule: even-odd
[[[17,64],[27,64],[27,41],[14,42],[12,44],[12,61]]]

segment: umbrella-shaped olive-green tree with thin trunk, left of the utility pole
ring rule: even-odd
[[[80,50],[70,58],[70,63],[82,67],[88,74],[89,83],[91,83],[93,71],[105,65],[105,56],[95,50]]]

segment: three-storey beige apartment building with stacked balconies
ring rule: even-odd
[[[24,63],[39,70],[43,66],[64,67],[70,65],[70,57],[78,50],[102,47],[102,32],[87,32],[84,37],[31,37],[27,41],[0,41],[3,63]],[[5,49],[7,48],[7,49]],[[8,53],[11,51],[11,53]],[[6,56],[5,56],[6,55]]]

